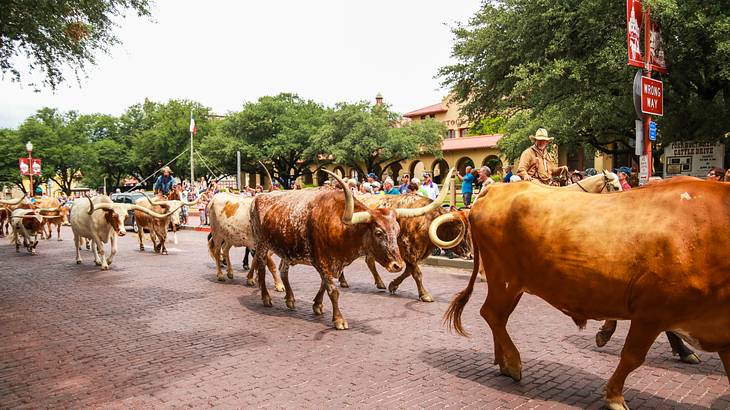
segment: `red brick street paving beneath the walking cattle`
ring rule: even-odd
[[[471,338],[441,326],[463,271],[424,267],[427,304],[411,280],[395,296],[375,289],[356,261],[340,298],[350,330],[335,331],[327,297],[324,316],[311,311],[319,283],[310,267],[291,269],[291,312],[276,292],[263,307],[240,265],[235,281],[216,282],[203,233],[180,232],[169,256],[122,238],[106,272],[89,252],[74,264],[71,232],[62,234],[38,256],[0,245],[0,408],[600,408],[628,329],[619,324],[599,349],[597,322],[579,331],[525,295],[509,324],[524,364],[515,383],[492,365],[478,315],[485,285],[464,313]],[[730,408],[718,357],[701,358],[681,364],[660,338],[627,380],[629,406]]]

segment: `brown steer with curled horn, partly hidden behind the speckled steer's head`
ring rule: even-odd
[[[358,197],[366,206],[371,209],[375,208],[421,208],[429,205],[432,201],[418,194],[405,194],[405,195],[372,195]],[[398,236],[398,247],[403,260],[406,262],[406,268],[402,274],[395,278],[388,285],[388,291],[395,293],[404,279],[411,276],[416,282],[418,288],[418,297],[424,302],[433,302],[431,293],[423,285],[423,273],[418,263],[426,259],[434,249],[436,245],[431,242],[428,237],[428,227],[431,222],[441,215],[451,215],[450,222],[444,223],[439,228],[439,237],[449,238],[452,241],[453,238],[458,237],[460,240],[454,244],[447,246],[444,249],[453,249],[454,253],[459,256],[468,257],[471,255],[471,243],[468,232],[468,224],[465,223],[468,218],[468,211],[454,211],[448,212],[443,207],[438,207],[426,215],[419,216],[417,218],[401,218],[398,220],[400,225],[400,235]],[[459,223],[459,221],[462,221]],[[464,232],[463,227],[467,228]],[[368,255],[365,257],[365,262],[373,274],[375,279],[375,286],[378,289],[385,289],[383,279],[380,278],[378,270],[375,267],[375,258]],[[348,287],[347,281],[345,280],[344,273],[340,275],[340,286]]]

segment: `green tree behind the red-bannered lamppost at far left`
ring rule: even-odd
[[[42,108],[18,128],[20,141],[33,143],[33,154],[43,160],[42,179],[52,179],[71,194],[73,181],[94,164],[91,141],[78,114]]]

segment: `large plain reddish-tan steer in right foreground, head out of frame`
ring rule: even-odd
[[[525,292],[581,327],[588,319],[631,321],[606,387],[610,409],[626,408],[626,377],[662,331],[718,352],[730,372],[730,185],[677,177],[622,194],[585,195],[495,184],[480,197],[469,215],[474,270],[444,320],[465,334],[461,314],[484,260],[489,291],[481,315],[502,374],[522,377],[506,325]],[[586,246],[595,232],[613,245]]]

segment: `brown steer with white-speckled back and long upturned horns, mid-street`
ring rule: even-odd
[[[340,186],[347,186],[338,176],[329,174]],[[317,315],[324,312],[322,297],[327,291],[335,328],[347,329],[347,321],[338,304],[335,278],[345,266],[365,255],[372,255],[390,272],[400,271],[405,262],[398,249],[398,218],[412,218],[433,211],[441,205],[447,192],[448,184],[445,184],[436,201],[413,209],[370,209],[355,200],[349,189],[275,191],[256,196],[251,225],[256,243],[254,263],[264,305],[272,305],[264,266],[268,252],[273,251],[281,257],[279,270],[286,289],[287,307],[294,309],[289,266],[310,264],[322,280],[312,310]]]

